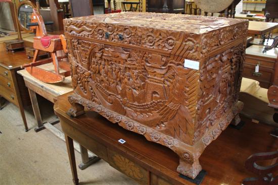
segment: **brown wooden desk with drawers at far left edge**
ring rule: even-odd
[[[28,105],[30,99],[23,78],[16,72],[21,65],[30,62],[24,50],[7,52],[5,45],[0,44],[0,96],[19,107],[26,132],[28,126],[23,105]]]

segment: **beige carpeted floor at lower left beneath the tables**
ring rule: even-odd
[[[39,101],[43,105],[42,118],[54,119],[53,105],[42,98]],[[0,110],[0,184],[73,184],[64,141],[46,129],[35,133],[31,107],[27,107],[25,114],[30,129],[27,133],[15,105],[8,102]],[[76,152],[75,156],[79,164],[80,154]],[[77,172],[80,185],[137,184],[103,160]]]

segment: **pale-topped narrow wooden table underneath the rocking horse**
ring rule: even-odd
[[[54,65],[52,63],[41,65],[38,67],[53,72],[55,71]],[[34,111],[34,116],[37,122],[37,127],[34,129],[35,132],[39,132],[42,129],[47,128],[57,137],[59,137],[62,140],[65,140],[64,134],[53,126],[54,124],[57,124],[59,120],[56,120],[54,122],[42,122],[36,94],[39,94],[40,96],[54,103],[56,97],[72,91],[71,77],[70,76],[66,77],[65,81],[61,83],[47,84],[37,80],[36,78],[31,76],[26,70],[20,70],[17,73],[24,78],[25,85],[29,91],[29,95],[30,95],[30,99]],[[82,146],[78,146],[78,144],[75,144],[75,148],[77,151],[81,153],[81,157],[82,157],[82,163],[79,165],[80,169],[85,169],[92,163],[99,160],[97,156],[92,156],[89,158],[87,150]]]

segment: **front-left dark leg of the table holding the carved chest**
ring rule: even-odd
[[[70,167],[71,167],[71,173],[72,173],[72,180],[75,185],[78,184],[78,176],[77,176],[77,169],[76,169],[76,163],[75,163],[75,156],[74,156],[74,148],[73,148],[73,140],[65,135],[66,139],[66,145],[69,155],[69,161],[70,161]]]

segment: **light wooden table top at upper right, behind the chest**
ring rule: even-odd
[[[262,35],[278,28],[278,23],[249,21],[248,34]]]

